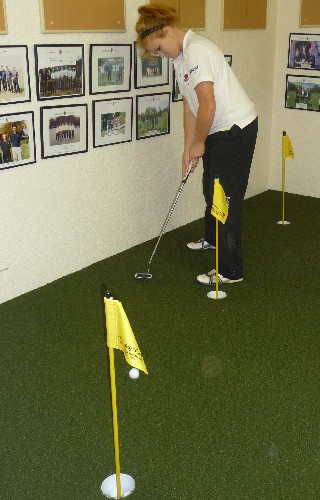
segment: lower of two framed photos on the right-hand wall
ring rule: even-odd
[[[287,75],[285,107],[320,111],[320,77]]]

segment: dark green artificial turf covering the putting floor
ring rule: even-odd
[[[183,203],[183,200],[181,200]],[[0,305],[1,500],[98,500],[115,472],[102,292],[149,370],[115,352],[133,500],[320,498],[320,199],[245,201],[245,279],[207,298],[203,220]]]

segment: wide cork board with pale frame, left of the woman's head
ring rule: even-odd
[[[124,0],[40,0],[42,31],[125,31]]]

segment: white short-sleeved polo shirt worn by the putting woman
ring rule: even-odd
[[[254,103],[243,90],[223,53],[208,38],[187,31],[183,51],[173,64],[180,93],[195,116],[199,107],[195,87],[200,82],[213,82],[216,113],[209,134],[229,130],[232,125],[246,127],[257,117]]]

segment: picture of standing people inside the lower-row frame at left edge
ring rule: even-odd
[[[29,133],[25,121],[0,124],[0,168],[30,158]]]

